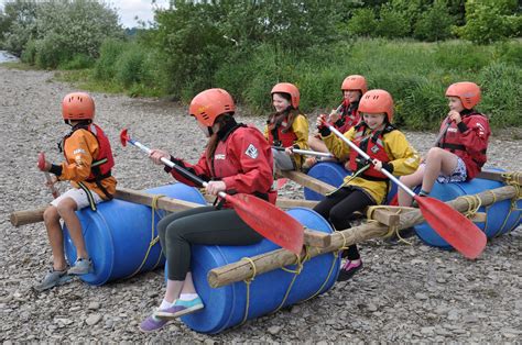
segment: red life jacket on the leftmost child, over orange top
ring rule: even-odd
[[[75,125],[70,133],[65,135],[62,140],[62,143],[58,145],[59,151],[62,151],[62,147],[65,147],[65,141],[78,130],[88,131],[98,141],[98,157],[93,157],[93,163],[90,164],[90,175],[86,181],[96,182],[96,185],[101,189],[107,198],[112,199],[112,196],[107,192],[107,190],[101,186],[100,181],[111,176],[111,169],[115,166],[115,158],[112,156],[109,138],[97,124],[90,123],[88,125]],[[67,159],[67,157],[65,158]]]

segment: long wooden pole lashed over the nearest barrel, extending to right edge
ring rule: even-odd
[[[513,186],[504,186],[493,190],[482,191],[475,196],[458,197],[455,200],[448,201],[459,212],[466,212],[469,209],[469,198],[478,198],[481,205],[490,205],[494,202],[520,198],[516,188]],[[398,229],[406,229],[424,222],[424,218],[418,209],[414,209],[410,212],[400,215]],[[315,257],[325,253],[330,253],[340,249],[341,247],[349,246],[352,244],[360,243],[370,238],[381,237],[388,233],[389,229],[387,225],[380,223],[366,223],[359,226],[354,226],[347,230],[342,230],[331,234],[331,243],[325,248],[311,248],[309,257]],[[301,254],[301,260],[304,258],[305,253]],[[276,249],[261,255],[251,257],[251,260],[255,265],[257,275],[271,271],[284,266],[295,265],[297,257],[295,254],[285,251]],[[217,267],[211,269],[207,275],[207,280],[210,287],[219,288],[236,281],[248,279],[252,276],[253,269],[250,260],[239,260],[226,266]]]

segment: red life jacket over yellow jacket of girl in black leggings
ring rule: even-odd
[[[388,156],[384,149],[384,143],[382,142],[382,137],[384,134],[390,133],[395,130],[395,127],[391,124],[387,124],[387,126],[382,131],[376,131],[369,134],[367,132],[367,124],[365,122],[359,123],[356,125],[356,135],[354,137],[354,144],[359,146],[371,159],[379,159],[382,163],[390,162],[390,157]],[[350,151],[350,170],[356,172],[357,170],[363,168],[370,164],[367,162],[362,156],[360,156],[357,151]],[[387,181],[388,177],[376,170],[373,166],[370,164],[370,168],[362,171],[360,177],[366,178],[368,180],[378,180],[378,181]]]

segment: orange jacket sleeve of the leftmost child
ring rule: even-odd
[[[65,141],[65,162],[62,163],[59,180],[80,182],[90,175],[93,157],[99,151],[98,141],[86,130],[78,130]]]

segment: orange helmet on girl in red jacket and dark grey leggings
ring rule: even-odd
[[[210,127],[219,115],[236,112],[236,104],[226,90],[208,89],[192,99],[188,112],[199,123]]]

